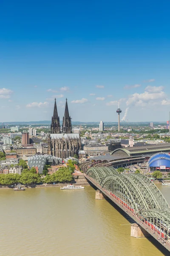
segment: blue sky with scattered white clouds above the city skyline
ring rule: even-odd
[[[0,3],[0,122],[166,122],[169,1]],[[125,115],[126,114],[126,115]]]

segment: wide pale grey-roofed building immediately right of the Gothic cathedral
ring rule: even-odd
[[[84,151],[85,154],[90,157],[90,156],[99,156],[102,154],[105,154],[108,152],[108,145],[103,145],[103,144],[94,144],[94,145],[84,145]]]

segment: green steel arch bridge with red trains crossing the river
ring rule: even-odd
[[[85,177],[170,251],[170,206],[148,177],[113,167],[89,168]]]

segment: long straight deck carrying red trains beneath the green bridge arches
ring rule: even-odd
[[[145,224],[143,221],[140,220],[140,218],[133,212],[131,212],[129,209],[127,209],[124,205],[122,205],[119,202],[119,199],[117,200],[112,196],[112,193],[107,191],[106,189],[102,188],[102,186],[99,185],[99,183],[96,183],[96,181],[89,177],[88,175],[84,174],[85,177],[96,186],[103,194],[105,194],[111,201],[113,201],[117,206],[119,206],[126,214],[128,214],[136,223],[138,223],[141,227],[144,228],[151,236],[153,236],[161,245],[163,245],[168,251],[170,251],[170,238],[165,241],[165,239],[162,239],[160,237],[160,234],[154,232],[151,227],[149,227],[147,224]],[[151,225],[150,225],[151,226]]]

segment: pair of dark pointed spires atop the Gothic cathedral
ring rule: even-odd
[[[54,112],[53,112],[53,116],[51,119],[51,134],[59,134],[61,133],[60,130],[60,123],[59,123],[59,116],[57,113],[57,104],[56,104],[56,99],[54,102]],[[66,99],[66,103],[65,103],[65,113],[63,116],[63,120],[62,120],[62,133],[72,133],[71,131],[71,117],[69,116],[69,112],[68,112],[68,104],[67,104],[67,99]]]

